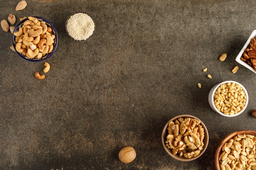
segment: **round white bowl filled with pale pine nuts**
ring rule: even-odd
[[[248,93],[245,87],[235,81],[225,81],[211,88],[208,95],[211,108],[222,116],[238,116],[247,107]]]

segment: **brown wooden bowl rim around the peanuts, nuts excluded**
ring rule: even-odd
[[[236,132],[232,132],[229,135],[227,135],[218,145],[216,152],[215,152],[215,156],[214,156],[214,162],[215,162],[215,168],[216,170],[221,170],[220,169],[220,161],[219,161],[219,155],[220,152],[222,151],[222,146],[229,140],[232,139],[233,137],[237,136],[237,135],[243,135],[243,134],[249,134],[249,135],[254,135],[256,136],[256,131],[253,130],[239,130]]]

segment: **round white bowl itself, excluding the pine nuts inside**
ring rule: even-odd
[[[238,113],[234,114],[234,115],[225,115],[224,113],[220,112],[215,104],[214,104],[214,93],[215,91],[217,90],[217,88],[221,85],[221,84],[225,84],[225,83],[235,83],[235,84],[239,84],[242,88],[243,88],[243,91],[245,92],[245,95],[246,95],[246,102],[245,102],[245,106],[243,109],[241,109]],[[248,93],[245,89],[245,87],[238,83],[238,82],[235,82],[235,81],[225,81],[225,82],[221,82],[219,84],[216,84],[215,86],[213,86],[213,88],[211,88],[211,91],[209,92],[209,95],[208,95],[208,102],[209,102],[209,105],[211,106],[211,108],[216,112],[216,113],[219,113],[220,115],[222,116],[226,116],[226,117],[234,117],[234,116],[238,116],[240,115],[241,113],[243,113],[243,111],[245,111],[245,108],[247,107],[248,105]]]

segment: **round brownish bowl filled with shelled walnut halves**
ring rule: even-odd
[[[193,161],[207,148],[209,134],[200,119],[192,115],[178,115],[170,119],[162,131],[164,150],[179,161]]]

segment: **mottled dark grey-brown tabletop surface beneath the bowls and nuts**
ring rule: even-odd
[[[44,62],[20,58],[9,49],[11,33],[0,30],[0,169],[214,170],[226,135],[256,130],[256,75],[235,61],[256,28],[255,0],[27,0],[15,11],[18,2],[1,0],[0,20],[47,18],[59,43],[38,80]],[[86,41],[65,31],[77,11],[95,23]],[[211,87],[225,80],[247,88],[242,115],[223,117],[208,104]],[[206,152],[191,162],[172,159],[161,143],[163,126],[180,114],[209,131]],[[132,163],[118,159],[125,146],[137,151]]]

